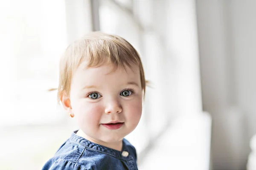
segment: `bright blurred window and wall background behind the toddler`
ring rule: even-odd
[[[140,170],[256,170],[255,8],[255,0],[0,1],[0,169],[41,169],[78,128],[48,89],[58,87],[67,45],[104,31],[134,45],[151,81],[127,136]]]

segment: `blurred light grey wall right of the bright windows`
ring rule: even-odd
[[[213,118],[214,170],[245,169],[256,133],[256,1],[197,0],[204,111]]]

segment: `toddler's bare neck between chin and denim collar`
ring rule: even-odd
[[[114,150],[122,151],[122,140],[118,142],[104,142],[101,140],[96,140],[86,135],[81,129],[77,131],[76,135],[81,136],[82,138],[87,139],[90,142],[100,144],[102,146],[109,147]]]

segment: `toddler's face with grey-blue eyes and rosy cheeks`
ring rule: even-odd
[[[70,90],[70,105],[81,130],[102,142],[118,142],[138,125],[142,113],[142,87],[137,66],[87,68],[81,63]],[[108,124],[110,122],[120,122]]]

